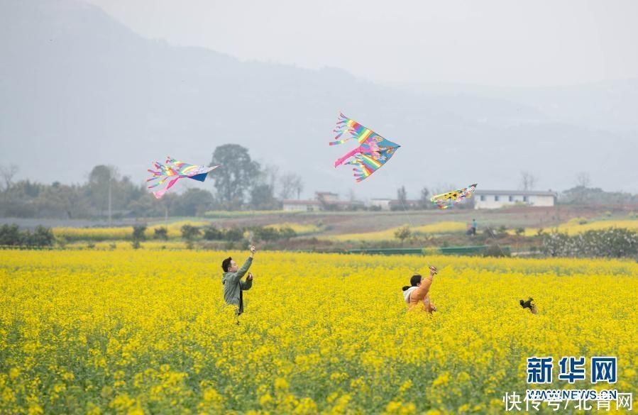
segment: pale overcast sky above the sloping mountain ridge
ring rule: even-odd
[[[147,38],[378,82],[638,77],[638,1],[85,0]]]

